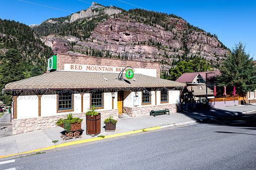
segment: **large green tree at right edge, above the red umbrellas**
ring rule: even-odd
[[[245,45],[241,42],[235,44],[227,59],[220,67],[221,75],[217,76],[220,85],[232,88],[236,87],[238,92],[247,93],[256,89],[256,67],[245,52]]]

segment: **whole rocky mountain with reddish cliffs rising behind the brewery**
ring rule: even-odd
[[[195,57],[216,66],[229,53],[216,35],[173,14],[125,11],[97,3],[32,29],[54,53],[156,61],[162,63],[162,71]]]

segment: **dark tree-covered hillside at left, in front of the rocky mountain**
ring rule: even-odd
[[[9,49],[16,49],[21,54],[26,71],[37,65],[46,71],[47,59],[53,55],[52,49],[35,36],[29,26],[10,20],[0,19],[0,59]]]

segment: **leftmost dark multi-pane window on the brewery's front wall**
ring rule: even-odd
[[[58,94],[58,112],[73,111],[73,94]]]

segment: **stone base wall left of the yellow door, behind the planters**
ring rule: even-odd
[[[100,111],[101,113],[101,121],[104,121],[108,118],[109,115],[114,115],[115,119],[118,118],[118,109],[115,110],[107,110],[107,111]],[[82,120],[82,123],[86,123],[86,114],[85,113],[76,113],[73,114],[73,117],[79,117]],[[30,119],[13,119],[13,134],[21,134],[35,130],[47,129],[47,128],[54,128],[56,127],[55,123],[60,119],[66,118],[66,115],[59,115],[59,116],[48,116],[48,117],[37,117],[37,118],[30,118]]]

